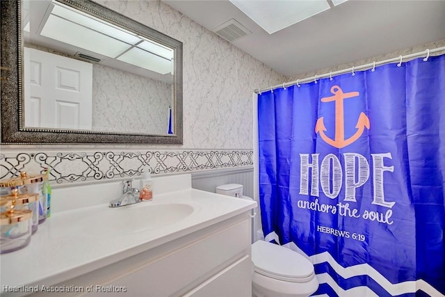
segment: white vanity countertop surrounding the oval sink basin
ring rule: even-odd
[[[148,204],[172,203],[191,205],[193,213],[176,223],[155,229],[141,229],[134,224],[129,232],[114,232],[106,227],[120,226],[121,222],[113,218],[122,218],[121,211]],[[257,202],[251,200],[188,188],[161,193],[150,202],[124,207],[109,208],[107,204],[101,204],[58,212],[39,225],[29,246],[0,256],[0,286],[57,284],[243,212],[247,216],[256,206]],[[122,224],[131,225],[131,218]],[[106,232],[95,232],[101,229]]]

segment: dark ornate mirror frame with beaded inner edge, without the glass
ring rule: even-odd
[[[182,42],[90,0],[58,0],[145,38],[175,49],[175,134],[25,128],[23,110],[23,42],[21,1],[0,1],[1,14],[1,144],[131,144],[182,145]]]

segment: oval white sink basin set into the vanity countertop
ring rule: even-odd
[[[99,212],[95,218],[81,220],[76,227],[88,228],[89,232],[87,233],[91,236],[132,234],[178,223],[192,213],[193,207],[188,204],[140,202],[139,204],[105,209],[104,212]],[[102,224],[97,224],[98,221]],[[94,227],[92,227],[93,224]]]

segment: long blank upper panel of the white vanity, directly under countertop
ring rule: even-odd
[[[128,296],[180,296],[247,255],[250,259],[250,222],[243,220],[224,230],[149,261],[122,277],[104,284],[105,287],[125,287]],[[142,261],[143,259],[141,259]],[[104,268],[107,269],[107,268]],[[219,270],[219,271],[220,271]],[[250,278],[250,272],[247,273]],[[250,285],[250,282],[249,282]],[[103,296],[95,292],[87,296]],[[107,296],[122,296],[108,292]],[[226,295],[227,296],[227,295]]]

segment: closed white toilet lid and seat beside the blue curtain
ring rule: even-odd
[[[289,248],[267,241],[252,244],[254,271],[275,280],[308,282],[314,278],[312,263]]]

